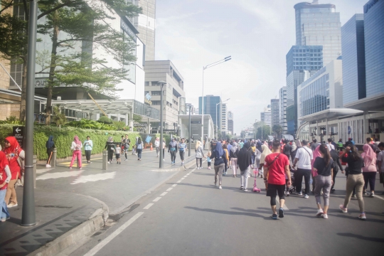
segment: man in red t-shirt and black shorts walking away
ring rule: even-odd
[[[289,171],[289,159],[286,155],[280,153],[280,142],[274,140],[272,143],[272,154],[265,157],[264,163],[264,178],[265,183],[268,183],[267,196],[271,197],[271,218],[277,220],[276,211],[276,196],[279,195],[279,218],[284,217],[284,191],[285,191],[285,176],[287,175],[287,186],[291,186],[291,173]]]

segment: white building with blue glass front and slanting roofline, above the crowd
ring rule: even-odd
[[[297,87],[298,118],[343,107],[342,60],[332,60]]]

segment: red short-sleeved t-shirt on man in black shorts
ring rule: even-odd
[[[265,157],[264,166],[268,167],[268,183],[274,185],[285,184],[285,166],[289,165],[289,159],[286,155],[280,154],[274,161],[274,158],[279,153],[272,153]],[[272,163],[272,161],[274,161]],[[272,164],[270,166],[270,164]]]

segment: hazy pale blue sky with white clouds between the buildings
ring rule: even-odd
[[[156,60],[171,60],[184,78],[187,102],[204,95],[230,98],[235,133],[260,120],[285,85],[285,55],[296,43],[294,4],[299,0],[157,0]],[[320,0],[319,4],[330,1]],[[341,26],[362,14],[368,0],[331,0]]]

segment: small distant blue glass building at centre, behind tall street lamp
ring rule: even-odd
[[[215,129],[216,129],[216,125],[218,125],[218,129],[221,130],[221,114],[220,114],[222,110],[221,97],[213,96],[213,95],[204,96],[204,107],[201,106],[201,100],[202,100],[202,97],[198,97],[198,114],[201,114],[202,110],[204,110],[204,114],[210,114],[210,117],[212,117]]]

